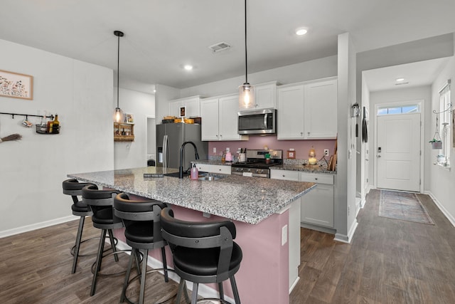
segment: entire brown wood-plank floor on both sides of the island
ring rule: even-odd
[[[436,225],[379,217],[379,192],[372,190],[351,244],[301,229],[301,280],[290,302],[455,303],[455,228],[429,196],[419,197]],[[81,258],[70,274],[76,230],[77,221],[71,221],[0,239],[0,303],[118,303],[123,276],[100,278],[90,297],[94,257]],[[87,219],[85,237],[90,236],[99,230]],[[90,241],[82,250],[96,247]],[[107,261],[105,271],[124,267],[127,256],[120,260],[117,266]],[[147,303],[166,300],[177,288],[156,273],[147,283]]]

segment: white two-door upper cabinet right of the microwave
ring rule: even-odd
[[[335,78],[278,88],[278,140],[335,139]]]

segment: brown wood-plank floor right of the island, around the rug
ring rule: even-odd
[[[301,281],[291,303],[455,303],[455,228],[428,195],[435,225],[378,216],[368,194],[351,244],[302,229]]]

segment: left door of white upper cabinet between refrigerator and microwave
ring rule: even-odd
[[[202,140],[218,139],[218,98],[202,100],[200,102],[202,124],[200,132]]]

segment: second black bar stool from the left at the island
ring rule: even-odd
[[[100,244],[98,245],[97,259],[95,262],[95,271],[93,273],[92,288],[90,295],[95,295],[97,277],[100,273],[103,252],[105,251],[106,234],[109,233],[112,253],[115,261],[117,257],[117,248],[115,248],[115,239],[112,229],[123,227],[122,220],[114,216],[114,197],[119,194],[117,190],[100,190],[96,185],[89,185],[82,188],[82,201],[92,209],[92,223],[95,228],[101,229]]]

